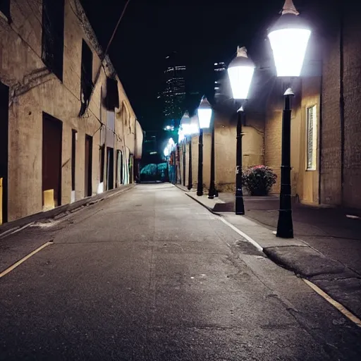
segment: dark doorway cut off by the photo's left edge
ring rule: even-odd
[[[0,82],[0,178],[2,185],[2,223],[8,221],[8,87]],[[1,188],[0,188],[1,192]],[[0,204],[1,207],[1,204]],[[1,219],[0,219],[1,224]]]

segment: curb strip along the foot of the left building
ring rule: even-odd
[[[115,188],[114,190],[107,190],[99,195],[92,195],[90,197],[82,198],[74,203],[63,204],[60,207],[56,207],[47,212],[38,212],[35,214],[30,214],[30,216],[25,216],[20,219],[16,219],[15,221],[8,222],[6,224],[2,224],[0,226],[0,239],[6,237],[6,235],[10,235],[13,232],[20,231],[30,224],[35,223],[36,221],[41,221],[45,219],[61,219],[63,216],[68,215],[68,213],[75,213],[80,211],[80,209],[91,206],[93,204],[97,204],[98,202],[102,202],[102,200],[106,200],[107,198],[114,197],[119,193],[126,192],[135,187],[135,184],[124,185],[122,188]]]

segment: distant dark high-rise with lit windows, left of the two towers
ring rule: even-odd
[[[177,53],[173,51],[166,56],[166,70],[164,71],[164,91],[161,92],[163,102],[163,116],[166,126],[178,123],[184,112],[185,103],[185,66],[180,62]]]

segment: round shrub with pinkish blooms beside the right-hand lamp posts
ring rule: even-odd
[[[242,172],[243,186],[250,195],[268,195],[277,176],[268,166],[251,166]]]

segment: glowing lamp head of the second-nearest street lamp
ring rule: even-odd
[[[233,99],[248,98],[253,73],[255,73],[255,63],[248,59],[247,49],[238,47],[237,56],[228,66]]]

